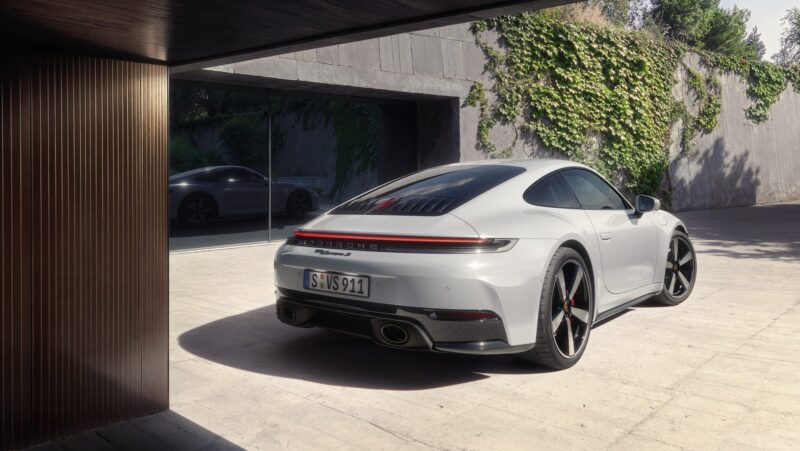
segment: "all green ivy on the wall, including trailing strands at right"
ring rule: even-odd
[[[500,34],[503,50],[480,38],[486,30]],[[706,78],[686,67],[698,103],[696,117],[672,95],[687,51],[682,44],[535,13],[477,22],[473,32],[488,59],[496,102],[489,102],[483,85],[475,83],[465,104],[480,108],[478,141],[492,157],[511,150],[498,151],[489,139],[499,122],[534,134],[567,158],[591,163],[609,178],[624,180],[622,188],[629,192],[655,194],[668,164],[672,125],[684,118],[684,154],[697,133],[717,127],[721,89],[713,75]],[[706,66],[748,81],[754,102],[747,114],[754,122],[766,120],[789,82],[800,90],[796,68],[697,53]]]

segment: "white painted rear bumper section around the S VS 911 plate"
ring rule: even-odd
[[[376,312],[391,313],[395,308],[491,311],[502,319],[498,327],[504,329],[502,336],[491,338],[526,345],[536,339],[543,262],[548,260],[552,244],[520,240],[508,251],[474,254],[328,250],[285,244],[275,255],[275,285],[281,291],[294,291],[296,295],[290,296],[294,299],[324,296],[345,305],[367,301],[376,306],[371,309]],[[306,270],[367,276],[369,298],[305,288]],[[468,340],[444,337],[438,341]]]

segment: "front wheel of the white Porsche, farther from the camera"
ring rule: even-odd
[[[664,270],[664,285],[653,300],[663,305],[678,305],[685,301],[697,280],[697,254],[692,240],[680,230],[672,234]]]

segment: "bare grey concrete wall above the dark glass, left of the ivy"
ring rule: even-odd
[[[420,165],[425,167],[485,158],[476,148],[478,111],[460,107],[474,81],[489,81],[483,73],[484,63],[469,25],[462,24],[218,66],[179,77],[418,102],[420,117],[444,115],[440,121],[420,122]],[[450,136],[439,142],[431,130]],[[435,157],[422,156],[429,152]]]

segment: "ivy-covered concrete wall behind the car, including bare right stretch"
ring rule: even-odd
[[[798,196],[786,182],[800,169],[790,144],[800,130],[791,112],[798,71],[536,14],[478,22],[473,32],[486,70],[464,106],[478,115],[474,143],[486,158],[566,157],[676,209]],[[759,154],[749,163],[745,143]],[[709,167],[686,169],[709,151]],[[747,164],[775,166],[773,179]]]

